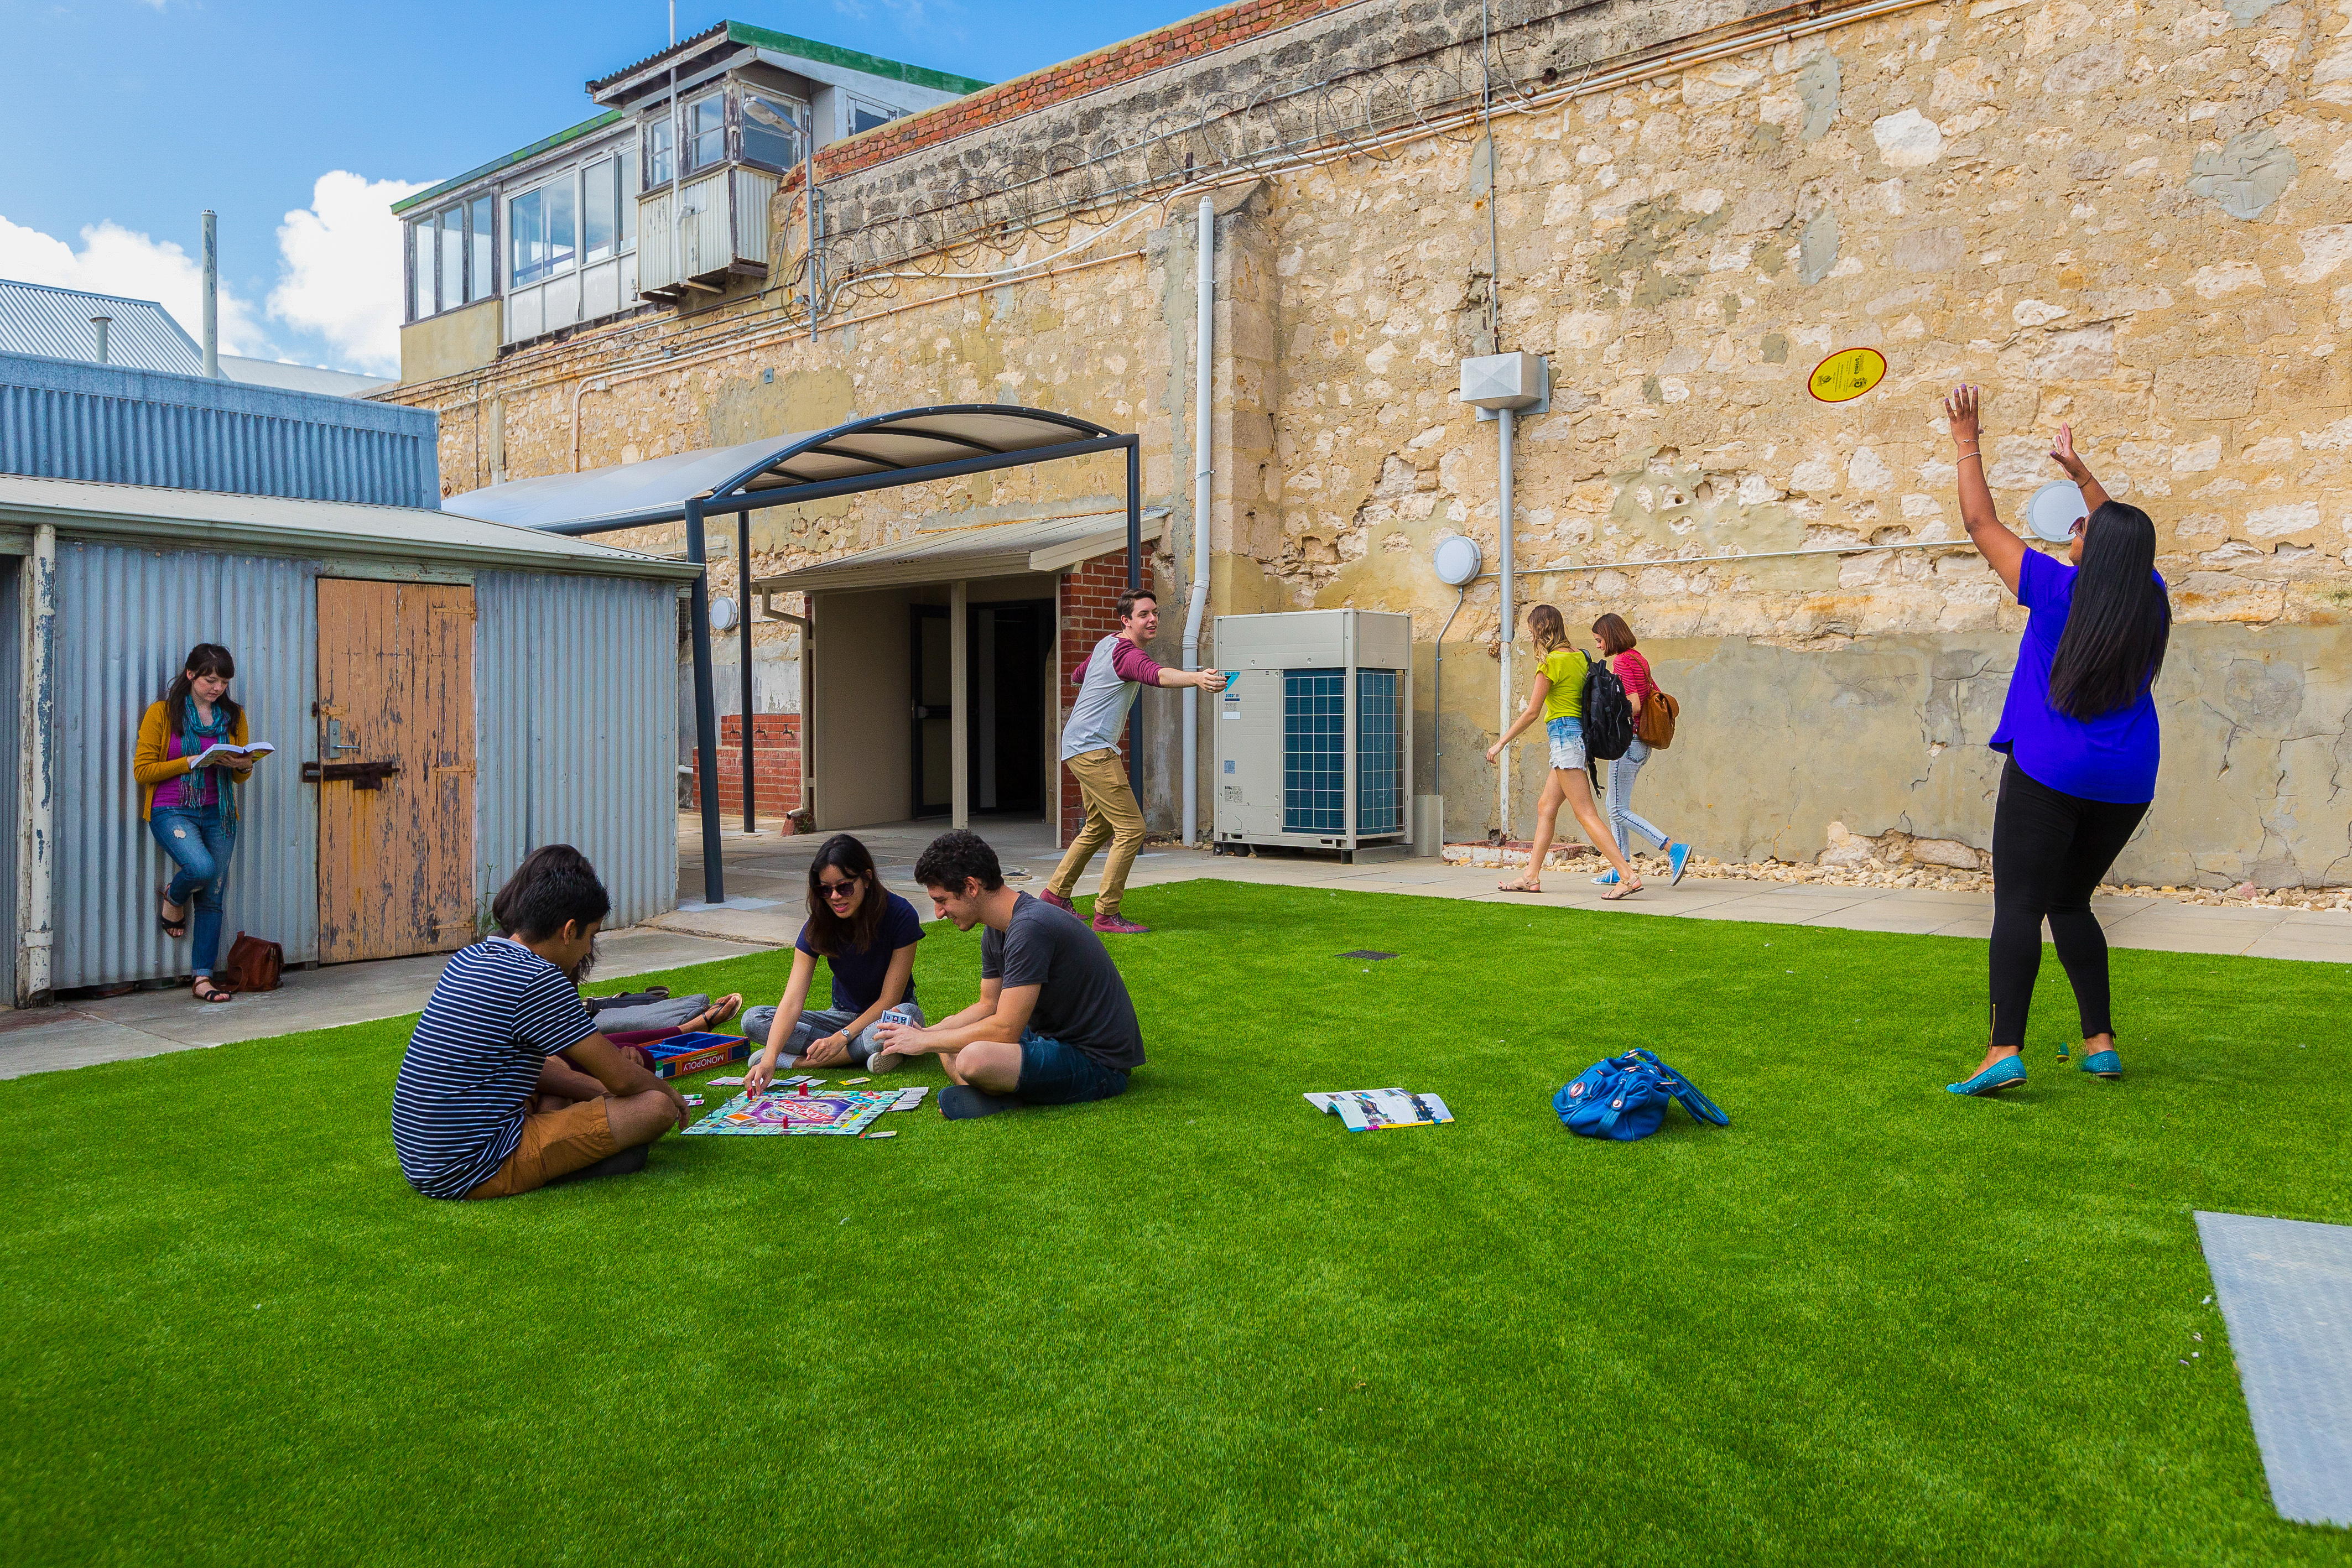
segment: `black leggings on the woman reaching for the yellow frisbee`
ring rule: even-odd
[[[1992,809],[1992,1044],[2025,1048],[2025,1013],[2042,973],[2042,922],[2074,985],[2082,1032],[2114,1034],[2107,1018],[2107,933],[2091,891],[2147,816],[2034,783],[2016,757],[2002,769]]]

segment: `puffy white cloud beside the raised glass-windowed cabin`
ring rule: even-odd
[[[400,374],[400,219],[390,207],[423,183],[334,169],[310,205],[278,226],[270,317],[313,331],[343,369]]]

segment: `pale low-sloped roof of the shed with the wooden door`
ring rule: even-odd
[[[0,527],[54,524],[68,538],[383,557],[409,567],[503,567],[691,581],[701,567],[409,505],[228,496],[209,489],[0,475]]]

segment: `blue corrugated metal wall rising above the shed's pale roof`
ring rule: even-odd
[[[437,508],[440,416],[0,353],[0,473]]]

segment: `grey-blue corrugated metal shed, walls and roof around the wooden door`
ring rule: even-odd
[[[694,567],[442,512],[0,475],[0,552],[35,524],[56,529],[49,990],[186,971],[188,945],[155,926],[167,863],[139,818],[132,750],[195,642],[228,644],[252,736],[280,748],[240,799],[223,950],[252,931],[294,964],[318,959],[320,797],[301,764],[320,757],[322,576],[473,583],[475,907],[548,842],[597,863],[612,924],[673,907],[677,592]],[[7,562],[0,630],[19,623],[19,578]],[[0,691],[19,684],[16,651],[0,635]],[[14,780],[19,741],[0,743],[0,778]],[[7,884],[7,917],[26,875]],[[14,933],[5,952],[19,957]]]

